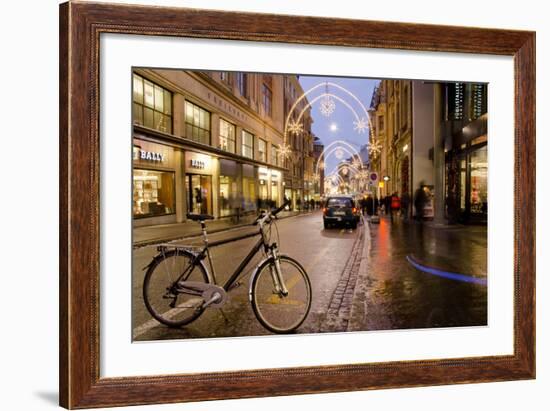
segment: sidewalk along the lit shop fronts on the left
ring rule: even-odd
[[[277,215],[277,218],[294,217],[306,213],[310,213],[310,211],[282,211]],[[257,214],[246,215],[241,217],[238,223],[232,222],[230,218],[209,220],[206,222],[206,230],[209,234],[213,234],[237,227],[244,227],[252,224],[257,217]],[[165,241],[198,236],[201,234],[201,226],[196,221],[188,220],[182,223],[134,227],[132,234],[133,247],[139,248]]]

